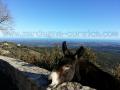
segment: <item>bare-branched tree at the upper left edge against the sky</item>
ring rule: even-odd
[[[12,17],[2,0],[0,0],[0,30],[7,31],[12,29]]]

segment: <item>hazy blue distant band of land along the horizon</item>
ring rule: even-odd
[[[37,47],[54,47],[61,46],[63,41],[67,41],[71,47],[78,47],[80,45],[89,47],[98,46],[117,46],[120,47],[120,42],[118,40],[89,40],[89,39],[0,39],[1,42],[8,41],[17,44],[27,45],[27,46],[37,46]]]

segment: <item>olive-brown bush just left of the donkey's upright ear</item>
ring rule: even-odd
[[[58,59],[62,56],[63,55],[59,47],[54,47],[51,49],[46,48],[42,53],[40,53],[39,60],[37,60],[37,62],[34,62],[34,64],[42,68],[52,70]]]

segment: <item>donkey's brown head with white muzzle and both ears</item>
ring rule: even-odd
[[[73,79],[77,60],[84,52],[84,48],[81,46],[76,53],[73,54],[68,50],[65,41],[62,44],[62,50],[64,56],[49,76],[49,79],[51,80],[51,87],[56,87],[63,82],[71,81]]]

